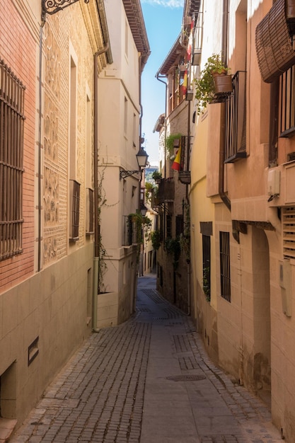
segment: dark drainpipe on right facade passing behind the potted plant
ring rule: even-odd
[[[228,27],[229,27],[229,0],[224,0],[222,11],[222,42],[221,42],[221,59],[227,64],[227,47],[228,47]],[[231,210],[231,201],[224,192],[224,160],[225,160],[225,130],[226,130],[226,103],[221,103],[220,115],[220,146],[219,146],[219,196],[224,205]]]

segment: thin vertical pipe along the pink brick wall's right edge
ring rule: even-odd
[[[40,35],[39,35],[39,122],[38,122],[38,233],[37,233],[37,272],[41,270],[41,134],[42,134],[42,40],[43,40],[43,27],[45,25],[45,20],[41,21],[40,25]]]

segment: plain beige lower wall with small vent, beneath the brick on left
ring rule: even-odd
[[[1,413],[18,425],[91,332],[92,265],[89,245],[0,295]],[[36,339],[38,353],[28,365]]]

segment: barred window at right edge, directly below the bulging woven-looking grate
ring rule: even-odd
[[[280,137],[295,133],[295,66],[279,79],[279,132]]]

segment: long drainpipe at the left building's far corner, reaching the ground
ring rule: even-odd
[[[109,42],[94,54],[94,258],[93,258],[93,332],[98,332],[98,274],[100,253],[100,224],[98,219],[98,57],[108,51]]]

